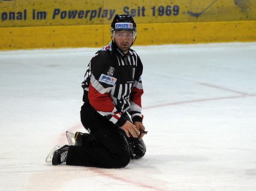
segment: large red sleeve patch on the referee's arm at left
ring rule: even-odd
[[[101,94],[91,83],[89,85],[88,98],[90,104],[96,111],[112,112],[114,110],[114,105],[109,93]]]

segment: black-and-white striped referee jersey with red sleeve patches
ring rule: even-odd
[[[124,55],[114,42],[95,53],[90,60],[82,87],[83,101],[119,127],[128,112],[132,122],[142,122],[141,75],[143,65],[137,53],[129,49]]]

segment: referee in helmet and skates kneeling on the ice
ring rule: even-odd
[[[142,137],[147,131],[141,113],[143,66],[131,49],[136,34],[131,15],[115,15],[111,23],[112,41],[96,52],[82,82],[81,122],[89,133],[67,131],[70,145],[54,147],[46,162],[123,168],[130,159],[145,155]]]

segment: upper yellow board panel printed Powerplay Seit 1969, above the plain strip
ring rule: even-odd
[[[256,1],[0,0],[0,27],[109,24],[115,14],[137,23],[256,20]]]

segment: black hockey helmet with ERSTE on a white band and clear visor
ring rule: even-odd
[[[137,35],[137,26],[131,15],[115,15],[111,23],[111,37],[114,37],[115,31],[132,31],[133,42]]]

